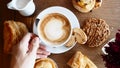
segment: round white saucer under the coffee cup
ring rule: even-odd
[[[47,9],[43,10],[42,12],[39,13],[39,15],[37,16],[36,19],[42,19],[45,15],[50,14],[50,13],[60,13],[67,17],[67,19],[72,24],[72,28],[75,28],[75,27],[80,28],[80,24],[79,24],[77,17],[70,10],[68,10],[64,7],[60,7],[60,6],[53,6],[53,7],[49,7]],[[38,35],[35,23],[33,25],[33,33]],[[63,52],[70,50],[71,48],[73,48],[75,46],[75,44],[69,48],[66,46],[60,46],[60,47],[54,47],[54,48],[46,46],[46,49],[47,49],[47,51],[49,51],[51,53],[59,54],[59,53],[63,53]]]

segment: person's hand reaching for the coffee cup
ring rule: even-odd
[[[50,53],[45,47],[39,44],[39,38],[34,34],[28,33],[13,48],[11,68],[33,68],[35,60],[45,58]]]

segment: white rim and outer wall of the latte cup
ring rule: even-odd
[[[46,15],[45,15],[46,16]],[[44,16],[44,17],[45,17]],[[44,19],[44,17],[38,22],[38,24],[37,24],[37,33],[38,33],[38,36],[40,37],[40,39],[41,39],[41,43],[42,44],[44,44],[44,45],[46,45],[46,46],[48,46],[48,47],[60,47],[60,46],[64,46],[69,40],[70,40],[70,38],[71,38],[71,36],[72,36],[72,24],[70,23],[70,21],[69,21],[69,24],[70,24],[70,34],[69,34],[69,36],[68,36],[68,38],[63,42],[63,43],[60,43],[60,44],[49,44],[48,42],[46,42],[46,40],[44,40],[44,38],[41,36],[41,34],[40,34],[40,25],[41,25],[41,21]]]

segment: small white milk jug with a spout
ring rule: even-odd
[[[8,9],[17,10],[23,16],[30,16],[35,11],[33,0],[12,0],[7,4]]]

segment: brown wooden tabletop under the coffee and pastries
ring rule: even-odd
[[[115,36],[117,29],[120,29],[119,0],[103,0],[102,7],[86,14],[78,12],[72,6],[71,0],[34,0],[36,11],[32,16],[29,17],[21,16],[17,11],[7,9],[6,4],[8,2],[10,2],[10,0],[0,0],[0,68],[9,68],[10,64],[10,56],[3,54],[3,23],[5,20],[21,21],[25,23],[29,28],[29,31],[32,32],[34,19],[42,10],[50,6],[63,6],[71,10],[77,16],[81,27],[84,24],[83,21],[87,18],[95,17],[104,19],[110,26],[111,30],[111,35],[108,40]],[[97,48],[89,48],[87,45],[76,44],[74,48],[65,53],[52,54],[49,57],[57,62],[59,68],[70,68],[66,63],[76,51],[80,50],[84,55],[88,56],[98,66],[98,68],[105,68],[101,58],[102,46]]]

